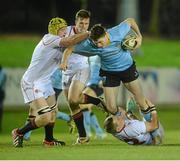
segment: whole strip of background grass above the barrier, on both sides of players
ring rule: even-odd
[[[1,36],[0,64],[5,67],[27,67],[40,36]],[[180,67],[180,41],[144,37],[142,55],[135,56],[138,67]]]

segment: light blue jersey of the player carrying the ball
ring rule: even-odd
[[[121,48],[121,42],[131,27],[122,22],[119,25],[108,29],[110,44],[105,48],[96,47],[90,39],[86,39],[75,45],[74,52],[80,55],[99,55],[101,68],[105,71],[124,71],[133,64],[130,51]]]

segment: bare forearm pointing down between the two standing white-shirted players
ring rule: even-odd
[[[60,64],[60,69],[62,69],[62,70],[66,70],[67,69],[67,67],[68,67],[68,60],[69,60],[69,57],[72,54],[72,51],[73,51],[73,46],[68,47],[68,48],[66,48],[64,50],[63,56],[62,56],[62,60],[61,60],[61,64]]]

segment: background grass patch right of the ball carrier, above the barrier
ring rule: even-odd
[[[138,66],[180,67],[180,41],[144,38],[143,54],[135,56]]]

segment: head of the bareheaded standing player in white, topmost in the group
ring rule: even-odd
[[[86,32],[89,28],[91,13],[87,10],[81,9],[76,13],[75,28],[76,32]]]

